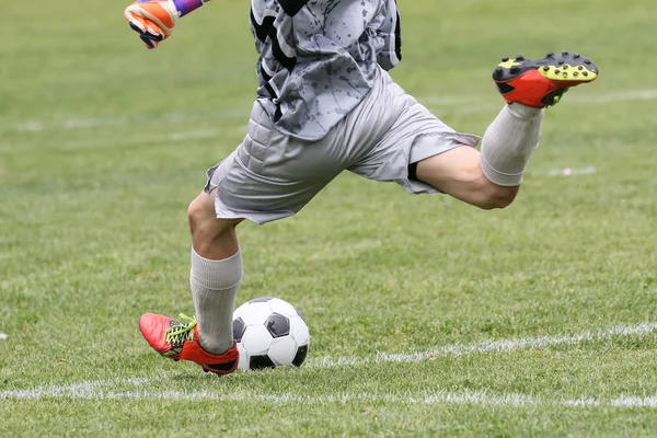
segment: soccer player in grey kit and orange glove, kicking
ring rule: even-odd
[[[207,0],[209,1],[209,0]],[[201,0],[139,0],[125,15],[147,48],[166,39]],[[210,168],[188,209],[196,318],[147,313],[139,326],[162,356],[234,371],[232,336],[242,255],[235,228],[295,215],[344,170],[394,181],[413,194],[446,193],[507,207],[539,145],[545,106],[598,76],[578,54],[504,58],[493,80],[506,104],[481,139],[460,134],[388,74],[402,59],[395,0],[252,0],[260,87],[249,130]]]

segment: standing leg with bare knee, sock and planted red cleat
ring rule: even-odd
[[[143,337],[158,353],[199,364],[205,371],[227,374],[238,367],[232,313],[242,280],[238,220],[217,219],[214,192],[201,193],[188,209],[192,230],[189,286],[195,318],[176,321],[154,313],[139,320]]]

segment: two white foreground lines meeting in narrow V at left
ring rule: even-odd
[[[608,330],[597,332],[585,332],[570,336],[542,336],[505,341],[488,341],[477,344],[451,344],[436,347],[425,353],[412,354],[381,354],[374,357],[342,357],[338,359],[318,359],[310,360],[304,368],[333,368],[343,366],[361,366],[380,362],[417,362],[430,360],[437,357],[463,356],[472,354],[502,354],[520,349],[541,349],[558,345],[573,345],[586,341],[600,341],[611,336],[637,336],[654,332],[657,330],[657,323],[644,323],[637,325],[616,325]],[[146,391],[128,390],[115,391],[117,387],[139,387],[151,382],[159,382],[172,377],[182,376],[180,372],[162,372],[151,377],[132,377],[127,379],[111,379],[97,381],[83,381],[79,383],[37,387],[34,389],[0,391],[1,400],[41,400],[41,399],[88,399],[88,400],[140,400],[140,399],[162,399],[162,400],[216,400],[216,401],[269,401],[269,402],[290,402],[290,403],[334,403],[350,401],[391,401],[399,403],[424,403],[424,404],[481,404],[495,406],[516,406],[531,405],[539,403],[556,403],[565,406],[616,406],[616,407],[657,407],[657,395],[635,396],[623,395],[614,400],[599,399],[575,399],[575,400],[541,400],[523,394],[502,394],[492,395],[488,392],[447,392],[441,391],[436,394],[424,395],[420,397],[411,395],[390,395],[390,394],[367,394],[367,393],[344,393],[327,396],[307,396],[295,394],[263,394],[255,392],[238,392],[233,394],[218,394],[208,391],[188,392],[188,391]],[[212,378],[212,376],[210,376]],[[110,390],[106,390],[110,388]]]

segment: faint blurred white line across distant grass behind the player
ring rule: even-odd
[[[567,96],[567,102],[583,105],[593,105],[610,102],[627,102],[627,101],[652,101],[657,99],[657,90],[629,90],[611,92],[590,96]],[[459,114],[470,114],[488,112],[499,108],[499,104],[484,103],[476,104],[476,97],[474,96],[424,96],[419,99],[420,103],[429,106],[452,108]],[[461,105],[465,102],[465,105]],[[199,120],[210,118],[222,118],[222,117],[247,117],[249,108],[224,108],[220,111],[212,111],[207,113],[174,113],[164,117],[149,117],[148,122],[162,120],[162,122],[184,122],[184,120]],[[51,122],[38,122],[28,120],[21,124],[14,125],[13,130],[23,132],[39,132],[43,130],[51,129],[84,129],[94,128],[102,126],[118,126],[118,125],[131,125],[143,123],[145,119],[140,118],[128,118],[128,117],[91,117],[91,118],[69,118],[61,120]],[[11,128],[10,128],[11,129]]]

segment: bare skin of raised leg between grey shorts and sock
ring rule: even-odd
[[[417,163],[417,180],[468,204],[489,209],[508,206],[519,187],[492,183],[481,168],[480,152],[460,146]]]

